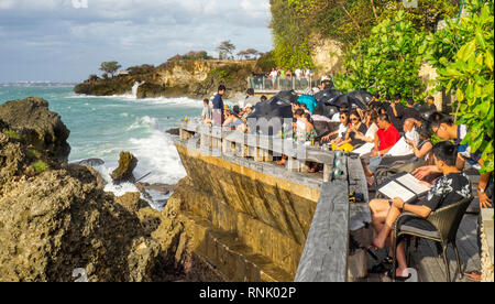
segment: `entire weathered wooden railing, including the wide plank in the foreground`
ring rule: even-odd
[[[323,183],[296,282],[345,282],[350,231],[371,221],[367,184],[361,161],[342,152],[298,144],[292,139],[229,131],[194,121],[180,122],[179,137],[212,156],[230,155],[272,162],[288,156],[288,171],[305,172],[308,162],[321,163]],[[351,203],[351,193],[363,195],[362,203]]]

